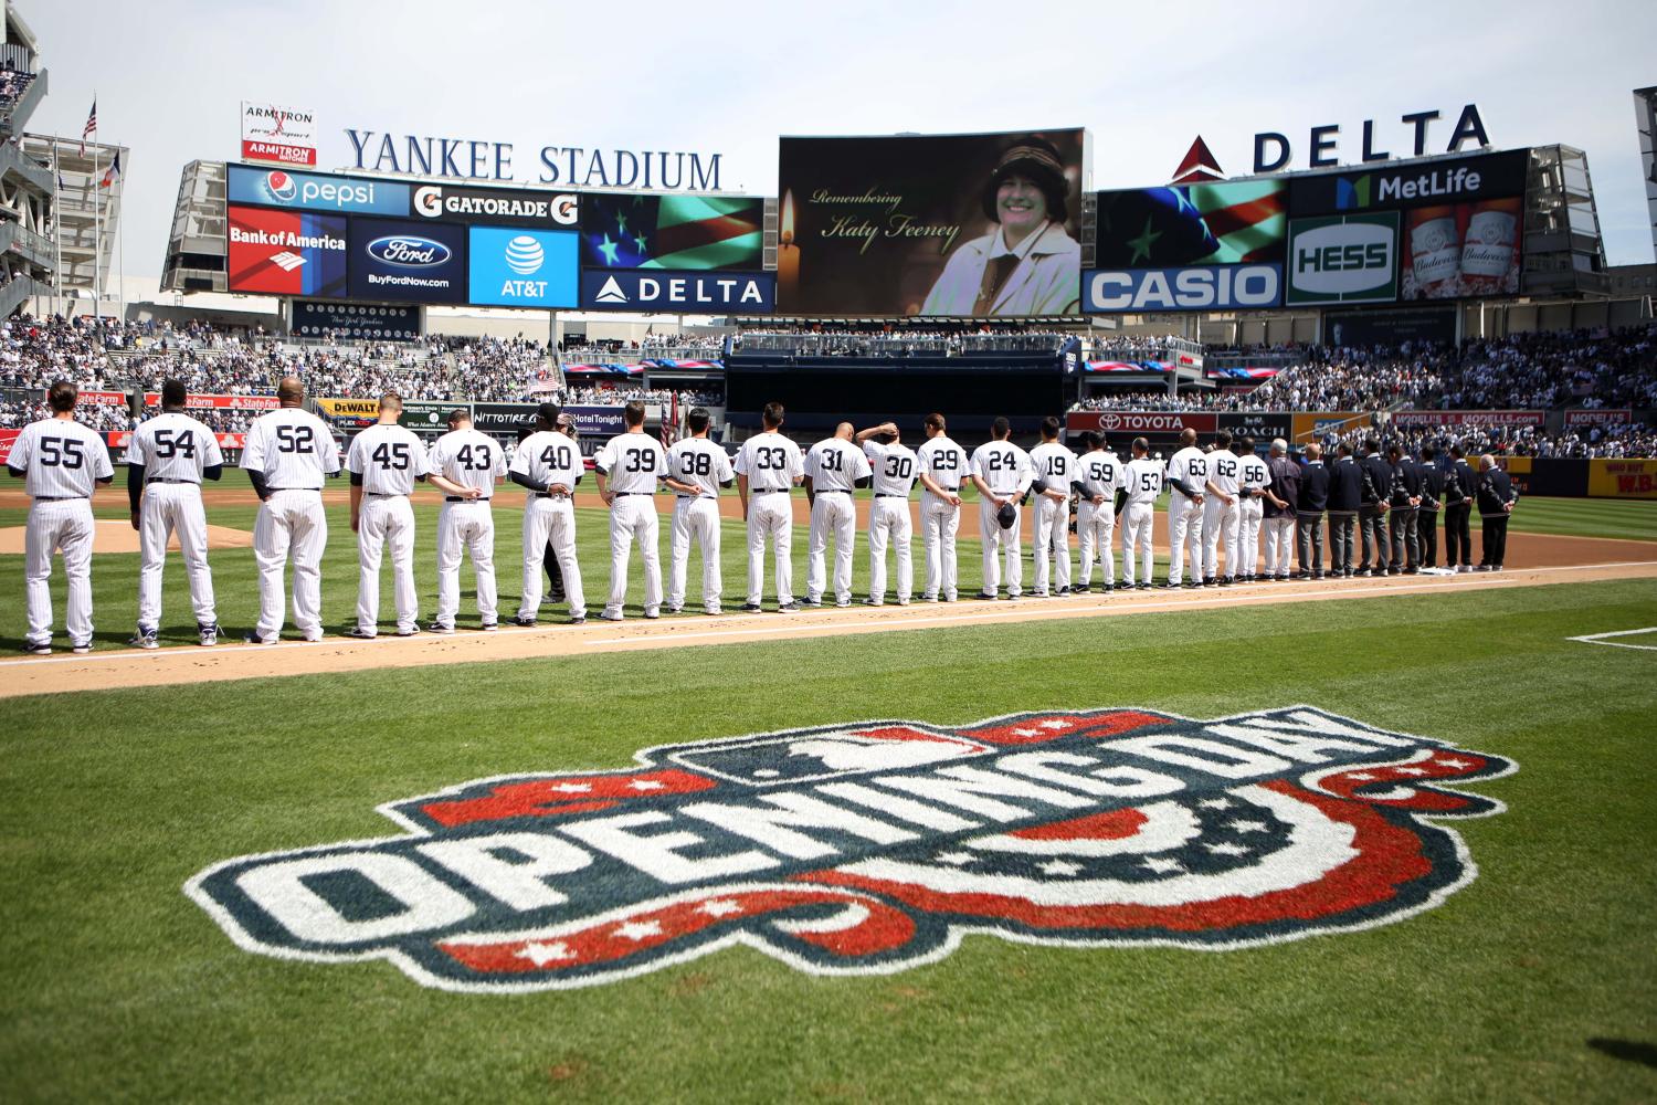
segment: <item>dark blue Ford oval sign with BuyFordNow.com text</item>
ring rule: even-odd
[[[351,297],[466,303],[466,229],[351,219]]]

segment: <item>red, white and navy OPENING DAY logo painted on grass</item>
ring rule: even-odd
[[[186,885],[240,948],[389,959],[449,991],[593,986],[747,944],[890,974],[969,933],[1236,949],[1367,929],[1473,880],[1440,818],[1511,760],[1287,706],[958,729],[870,721],[669,744],[638,767],[391,802],[406,832]]]

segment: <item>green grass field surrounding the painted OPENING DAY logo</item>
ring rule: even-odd
[[[1652,535],[1657,510],[1523,507],[1617,537]],[[124,500],[99,514],[124,517]],[[210,520],[249,528],[252,510]],[[345,512],[330,524],[331,631],[356,572]],[[578,528],[597,595],[601,514]],[[431,532],[423,514],[423,613]],[[726,527],[727,605],[739,533]],[[799,528],[795,562],[800,590]],[[961,563],[976,581],[974,542]],[[134,570],[98,557],[101,648],[131,631]],[[214,570],[222,621],[249,625],[250,552],[214,553]],[[865,573],[860,542],[858,593]],[[0,557],[0,593],[20,591],[22,558]],[[164,635],[191,639],[176,557],[166,603]],[[0,638],[20,636],[20,608],[0,608]],[[1566,639],[1644,626],[1657,580],[0,699],[0,1100],[1654,1100],[1657,653]],[[534,994],[250,954],[182,893],[234,856],[394,835],[386,802],[623,769],[653,744],[1294,702],[1516,760],[1463,784],[1506,805],[1455,823],[1478,876],[1380,928],[1236,951],[973,934],[901,972],[820,977],[726,948]]]

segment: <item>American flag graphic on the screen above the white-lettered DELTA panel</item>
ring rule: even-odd
[[[582,199],[587,268],[759,270],[766,200],[603,194]]]

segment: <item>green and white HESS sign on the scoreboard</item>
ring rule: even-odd
[[[1399,298],[1399,212],[1289,220],[1289,306]]]

